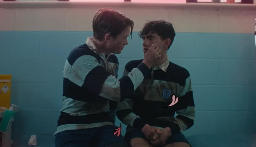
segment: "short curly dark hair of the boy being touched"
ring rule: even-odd
[[[139,37],[143,38],[143,35],[148,35],[149,33],[157,34],[162,40],[169,38],[171,40],[168,50],[173,43],[174,37],[176,35],[173,24],[166,22],[165,20],[152,20],[148,21],[144,28],[139,32]]]

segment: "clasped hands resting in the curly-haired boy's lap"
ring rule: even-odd
[[[141,131],[154,146],[164,145],[168,137],[171,136],[171,130],[169,127],[160,129],[146,124]]]

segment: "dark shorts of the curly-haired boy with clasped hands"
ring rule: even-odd
[[[143,139],[147,140],[145,135],[142,133],[142,131],[140,131],[138,129],[133,129],[133,130],[129,131],[127,134],[125,134],[124,138],[129,145],[130,145],[130,140],[133,138],[143,138]],[[171,143],[178,143],[178,142],[183,142],[183,143],[189,144],[189,141],[185,138],[185,136],[182,133],[178,133],[178,134],[171,135],[166,140],[164,145],[171,144]]]

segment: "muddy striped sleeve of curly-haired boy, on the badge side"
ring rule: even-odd
[[[174,109],[178,115],[170,125],[172,134],[186,131],[194,124],[195,103],[190,76],[186,78],[185,86],[177,97],[178,103],[174,105]]]

